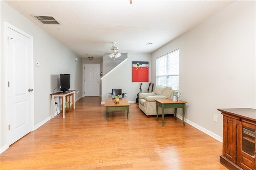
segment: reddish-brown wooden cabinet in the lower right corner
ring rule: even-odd
[[[218,109],[223,115],[223,150],[220,163],[228,169],[255,170],[256,110]]]

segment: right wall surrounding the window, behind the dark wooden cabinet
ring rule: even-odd
[[[222,115],[217,109],[256,109],[255,19],[255,1],[236,1],[152,53],[154,81],[156,58],[180,49],[186,119],[219,140]]]

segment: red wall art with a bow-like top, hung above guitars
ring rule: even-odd
[[[148,61],[132,61],[132,82],[148,82]]]

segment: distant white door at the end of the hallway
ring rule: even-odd
[[[100,65],[84,65],[84,96],[99,96]]]

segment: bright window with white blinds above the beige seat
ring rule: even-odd
[[[176,49],[156,59],[156,85],[179,90],[179,58],[180,50]]]

